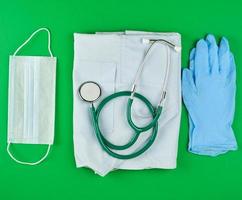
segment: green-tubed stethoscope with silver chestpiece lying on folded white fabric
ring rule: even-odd
[[[167,40],[163,40],[163,39],[156,39],[156,40],[143,39],[142,42],[151,43],[151,45],[148,48],[148,50],[146,51],[144,59],[136,72],[135,79],[134,79],[134,82],[132,84],[132,88],[130,91],[115,92],[115,93],[107,96],[106,98],[104,98],[99,103],[99,105],[95,108],[94,102],[96,102],[100,98],[101,93],[102,93],[101,92],[102,90],[101,90],[101,87],[99,86],[99,84],[96,82],[93,82],[93,81],[86,81],[86,82],[82,83],[78,89],[81,99],[86,102],[91,103],[90,113],[91,113],[91,118],[92,118],[92,124],[94,127],[96,137],[98,139],[98,142],[100,143],[100,145],[104,151],[106,151],[110,156],[118,158],[118,159],[135,158],[135,157],[141,155],[142,153],[144,153],[154,143],[155,138],[157,136],[157,131],[158,131],[158,120],[161,116],[162,108],[164,105],[164,100],[166,97],[166,87],[167,87],[167,82],[168,82],[168,74],[169,74],[170,59],[171,59],[169,48],[172,48],[175,51],[180,51],[179,46],[176,46],[176,45],[172,44],[171,42],[169,42]],[[152,50],[155,48],[155,46],[159,45],[159,44],[166,45],[167,63],[166,63],[166,70],[165,70],[165,76],[164,76],[164,82],[163,82],[163,86],[162,86],[160,101],[159,101],[157,107],[154,108],[153,105],[151,104],[151,102],[146,97],[144,97],[142,94],[139,94],[136,92],[136,86],[141,77],[144,65],[145,65],[148,57],[152,53]],[[128,102],[127,102],[127,108],[126,108],[126,117],[127,117],[129,126],[134,130],[134,135],[131,137],[130,141],[127,142],[126,144],[115,145],[115,144],[111,143],[110,141],[108,141],[105,138],[105,136],[102,134],[100,127],[99,127],[99,116],[100,116],[102,109],[105,107],[106,104],[108,104],[110,101],[112,101],[116,98],[123,97],[123,96],[129,97]],[[131,109],[132,109],[132,104],[133,104],[134,98],[141,100],[147,106],[147,108],[153,118],[149,124],[147,124],[143,127],[137,126],[132,119]],[[123,154],[117,153],[117,151],[126,150],[126,149],[130,148],[131,146],[133,146],[136,143],[136,141],[138,140],[141,133],[146,132],[151,129],[152,129],[152,133],[149,136],[149,138],[147,139],[147,142],[143,145],[143,147],[141,147],[137,151],[130,153],[130,154],[123,155]]]

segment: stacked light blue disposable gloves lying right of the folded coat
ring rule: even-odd
[[[237,149],[232,122],[236,69],[229,43],[219,47],[213,35],[198,41],[190,67],[182,74],[182,92],[189,113],[189,147],[195,154],[217,156]]]

